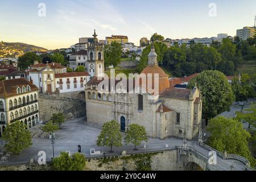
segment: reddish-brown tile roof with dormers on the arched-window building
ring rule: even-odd
[[[30,85],[30,92],[35,92],[38,90],[34,84],[31,84],[31,82],[27,81],[25,78],[2,80],[0,81],[0,98],[16,96],[17,88],[20,87],[20,89],[22,89],[23,86],[27,87],[27,85]]]

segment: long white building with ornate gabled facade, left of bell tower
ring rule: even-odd
[[[88,73],[56,73],[49,65],[41,70],[31,69],[28,77],[42,94],[81,92],[90,79]]]

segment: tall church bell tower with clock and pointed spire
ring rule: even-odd
[[[100,44],[97,39],[96,31],[94,30],[93,42],[88,43],[87,48],[87,62],[88,62],[88,73],[91,77],[104,76],[105,65],[104,65],[104,44]]]

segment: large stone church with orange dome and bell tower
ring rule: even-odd
[[[120,130],[125,132],[132,123],[144,126],[148,137],[164,139],[167,137],[191,140],[200,130],[202,117],[202,98],[200,90],[177,89],[170,86],[170,80],[163,69],[158,66],[154,47],[148,55],[148,65],[141,75],[158,74],[159,92],[131,93],[130,86],[122,85],[117,92],[111,86],[101,86],[104,75],[104,45],[98,43],[94,32],[94,42],[88,45],[88,72],[92,76],[85,85],[87,121],[104,125],[115,119]],[[147,77],[147,79],[149,79]],[[152,80],[147,80],[154,82]],[[115,86],[121,80],[114,80]],[[110,81],[111,82],[111,81]],[[119,84],[120,85],[120,84]]]

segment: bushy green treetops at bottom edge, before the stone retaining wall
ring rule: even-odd
[[[55,171],[83,171],[85,166],[85,156],[79,153],[70,157],[67,152],[61,152],[59,157],[52,159]]]

